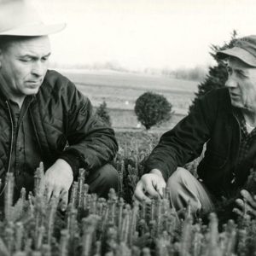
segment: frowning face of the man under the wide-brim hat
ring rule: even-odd
[[[38,92],[49,65],[48,37],[26,38],[0,49],[0,74],[13,98]]]

